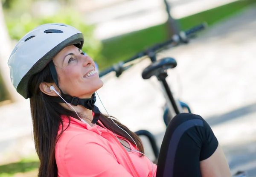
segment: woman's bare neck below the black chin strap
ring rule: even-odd
[[[71,111],[74,111],[69,105],[67,105],[66,103],[60,103],[62,107],[68,109],[68,110],[71,110]],[[77,105],[77,106],[74,106],[74,105],[71,105],[73,106],[73,108],[76,110],[77,113],[79,113],[80,115],[80,118],[83,119],[85,122],[87,122],[89,125],[92,126],[92,120],[93,120],[93,111],[92,110],[89,110],[81,105]]]

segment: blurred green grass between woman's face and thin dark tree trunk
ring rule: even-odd
[[[107,59],[99,62],[99,68],[109,67],[118,61],[125,60],[146,46],[163,41],[167,37],[165,29],[165,25],[159,25],[102,41],[102,55]]]

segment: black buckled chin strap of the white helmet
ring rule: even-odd
[[[55,65],[52,60],[49,62],[48,66],[49,66],[52,78],[53,78],[56,86],[61,91],[61,96],[66,100],[66,102],[68,102],[74,106],[81,105],[89,110],[92,110],[94,113],[92,123],[96,124],[96,122],[99,120],[100,111],[99,111],[99,108],[96,107],[96,105],[94,105],[96,102],[95,93],[93,93],[93,95],[90,99],[80,99],[76,96],[70,96],[70,95],[64,94],[62,92],[62,90],[60,89],[60,87],[58,86],[58,75],[57,75],[57,71],[55,69]],[[60,97],[51,97],[51,100],[53,102],[65,103],[64,100],[62,100]]]

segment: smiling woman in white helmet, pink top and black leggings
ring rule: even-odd
[[[158,166],[153,164],[140,138],[94,105],[103,83],[83,43],[71,26],[44,24],[9,58],[14,87],[30,99],[38,177],[231,176],[211,128],[189,113],[169,124]]]

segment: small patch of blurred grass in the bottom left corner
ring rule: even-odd
[[[39,161],[36,157],[27,157],[20,162],[9,163],[6,165],[0,165],[0,177],[13,177],[15,174],[33,173],[37,174],[39,167]],[[35,175],[33,175],[35,176]]]

